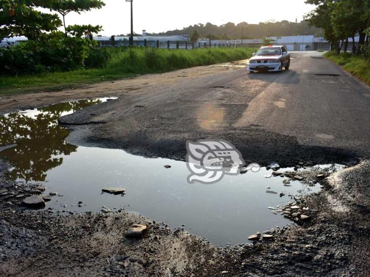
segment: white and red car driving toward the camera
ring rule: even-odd
[[[289,69],[290,53],[282,45],[262,46],[257,53],[252,54],[249,60],[248,71],[282,71]]]

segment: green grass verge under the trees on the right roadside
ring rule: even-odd
[[[323,56],[370,85],[370,61],[366,58],[353,56],[351,53],[337,54],[335,51],[327,52]]]

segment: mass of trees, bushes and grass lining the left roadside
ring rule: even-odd
[[[236,61],[251,57],[255,51],[250,48],[100,48],[92,36],[102,31],[102,26],[66,25],[68,14],[104,6],[100,0],[0,0],[0,38],[28,38],[18,45],[0,48],[0,94],[55,90]],[[43,12],[45,9],[51,13]],[[193,39],[198,37],[196,34]]]

